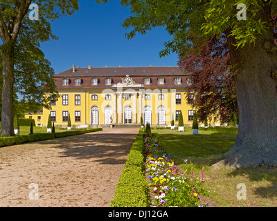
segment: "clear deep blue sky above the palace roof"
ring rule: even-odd
[[[159,58],[163,43],[170,35],[163,28],[151,30],[134,39],[125,38],[121,27],[129,17],[129,8],[113,0],[102,5],[91,0],[80,1],[79,10],[72,16],[52,23],[53,34],[60,39],[42,44],[46,58],[55,73],[72,68],[104,66],[177,66],[175,54]]]

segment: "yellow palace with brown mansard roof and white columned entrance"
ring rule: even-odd
[[[70,68],[54,75],[61,95],[51,110],[26,113],[37,126],[46,126],[51,115],[55,126],[66,127],[69,114],[73,128],[113,125],[168,126],[193,124],[194,94],[186,97],[189,74],[178,67]],[[173,117],[173,118],[172,118]]]

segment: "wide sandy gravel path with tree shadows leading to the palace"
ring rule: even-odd
[[[107,128],[0,148],[0,206],[109,206],[137,133]]]

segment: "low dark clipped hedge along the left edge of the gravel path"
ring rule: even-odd
[[[82,130],[82,131],[65,131],[60,133],[34,133],[30,135],[19,135],[15,137],[0,137],[0,147],[24,144],[28,142],[35,142],[35,141],[41,141],[41,140],[51,140],[59,137],[67,137],[67,136],[78,135],[83,133],[91,133],[96,131],[102,131],[102,128],[93,128],[93,129]]]

